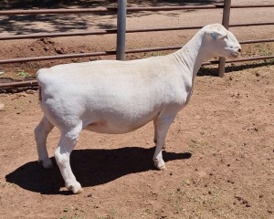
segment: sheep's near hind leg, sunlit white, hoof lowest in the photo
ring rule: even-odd
[[[79,131],[62,132],[58,143],[58,148],[55,151],[55,159],[65,181],[65,186],[73,193],[82,193],[83,189],[77,182],[73,172],[71,171],[69,157],[71,151],[77,143]]]

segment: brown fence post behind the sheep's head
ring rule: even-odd
[[[231,6],[231,0],[225,0],[222,25],[225,26],[227,29],[229,26],[230,6]],[[220,57],[218,73],[219,73],[219,77],[221,78],[225,76],[225,66],[226,66],[226,57]]]

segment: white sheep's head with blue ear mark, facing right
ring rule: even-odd
[[[237,38],[220,24],[208,25],[204,28],[205,39],[213,56],[237,57],[241,52]]]

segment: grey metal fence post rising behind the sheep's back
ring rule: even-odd
[[[125,59],[127,0],[118,0],[116,59]]]

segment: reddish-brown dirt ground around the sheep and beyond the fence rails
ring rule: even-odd
[[[214,1],[208,1],[214,2]],[[216,2],[216,1],[215,1]],[[235,5],[271,1],[232,1]],[[163,4],[163,3],[162,3]],[[212,3],[211,3],[212,4]],[[215,13],[215,17],[211,16]],[[145,13],[129,16],[129,28],[201,25],[219,22],[221,11]],[[7,19],[8,17],[6,17]],[[273,9],[231,12],[231,23],[273,21]],[[93,22],[90,21],[92,19]],[[271,20],[270,20],[271,19]],[[69,19],[68,19],[69,20]],[[89,28],[105,28],[114,17],[79,16]],[[148,22],[149,20],[149,22]],[[44,24],[48,31],[58,25]],[[240,21],[240,22],[239,22]],[[69,22],[68,22],[69,23]],[[66,23],[65,25],[68,25]],[[24,19],[22,33],[35,32]],[[79,22],[79,26],[80,26]],[[1,26],[0,28],[5,28]],[[86,27],[83,27],[86,28]],[[76,29],[76,28],[75,28]],[[88,27],[87,27],[88,29]],[[6,32],[5,32],[6,31]],[[272,26],[231,28],[239,40],[271,38]],[[10,30],[16,34],[16,28]],[[2,29],[2,34],[7,28]],[[194,31],[132,34],[127,48],[183,45]],[[84,36],[3,41],[1,59],[110,50],[114,36]],[[273,55],[273,43],[243,45],[242,57]],[[160,53],[128,55],[128,59]],[[113,57],[92,57],[102,59]],[[37,68],[75,58],[0,66],[0,82],[31,78]],[[33,130],[42,117],[37,90],[0,93],[1,218],[261,218],[274,217],[274,66],[273,59],[228,64],[224,78],[216,67],[202,68],[188,106],[174,120],[165,142],[168,170],[153,167],[153,124],[123,135],[83,131],[71,154],[71,166],[84,193],[64,188],[58,167],[37,163]],[[59,132],[48,137],[53,154]]]

